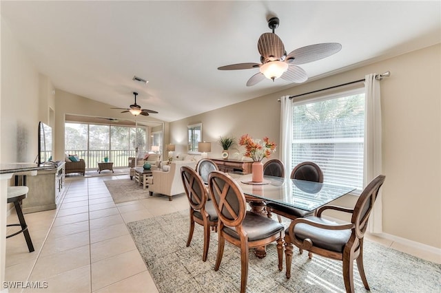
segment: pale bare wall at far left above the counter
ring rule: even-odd
[[[1,19],[1,162],[38,153],[39,73]]]

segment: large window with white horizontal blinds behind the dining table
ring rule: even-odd
[[[365,92],[345,91],[293,104],[292,164],[320,166],[325,182],[363,184]]]

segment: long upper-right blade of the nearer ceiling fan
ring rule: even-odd
[[[342,45],[340,43],[321,43],[309,45],[298,48],[289,53],[285,60],[287,63],[292,65],[305,64],[336,54],[341,49]]]

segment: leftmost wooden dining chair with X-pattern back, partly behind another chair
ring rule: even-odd
[[[188,232],[187,247],[192,242],[194,223],[204,227],[204,248],[202,260],[207,260],[210,230],[217,230],[218,215],[213,202],[207,200],[207,188],[198,173],[189,166],[181,167],[181,177],[185,194],[190,205],[190,227]]]

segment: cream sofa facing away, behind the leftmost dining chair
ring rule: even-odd
[[[150,195],[161,193],[172,200],[174,195],[184,193],[181,179],[181,166],[196,167],[196,160],[172,161],[170,164],[163,163],[162,171],[152,171],[152,177],[147,178]]]

